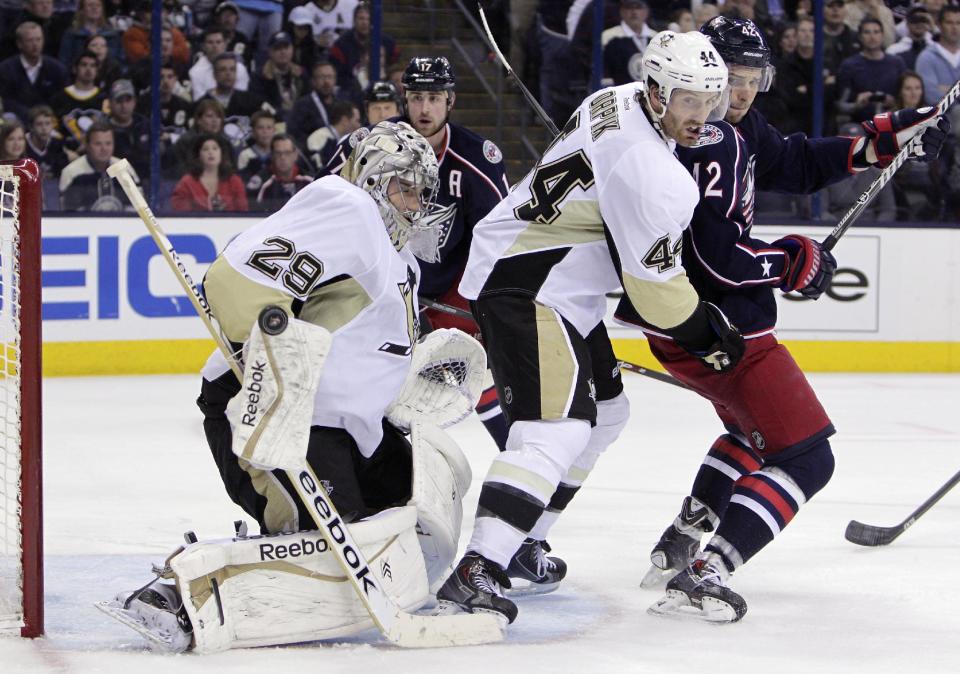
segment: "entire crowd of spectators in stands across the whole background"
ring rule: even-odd
[[[515,70],[557,124],[589,91],[598,3],[604,85],[635,80],[659,30],[696,30],[717,14],[749,18],[776,53],[773,88],[757,108],[784,133],[813,133],[812,0],[481,0]],[[383,34],[381,72],[369,72],[371,15],[360,0],[162,6],[164,207],[275,210],[339,139],[384,110],[402,110],[400,45]],[[106,179],[111,157],[127,157],[139,180],[150,177],[152,20],[150,0],[0,0],[0,159],[40,164],[56,186],[45,208],[122,209]],[[947,0],[825,0],[824,21],[824,135],[856,134],[879,112],[935,104],[960,79],[960,6]],[[960,215],[954,146],[898,172],[873,217]],[[848,184],[825,191],[826,211],[842,213],[855,194]],[[764,207],[807,215],[809,204],[767,198]]]

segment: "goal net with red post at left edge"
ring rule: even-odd
[[[43,633],[40,170],[0,164],[0,635]]]

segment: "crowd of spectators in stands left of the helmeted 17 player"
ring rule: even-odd
[[[159,108],[162,208],[272,212],[368,120],[399,49],[359,0],[164,0]],[[150,0],[0,0],[0,160],[30,157],[44,207],[122,211],[106,174],[151,170]],[[365,93],[366,92],[366,93]],[[52,203],[51,203],[52,202]]]

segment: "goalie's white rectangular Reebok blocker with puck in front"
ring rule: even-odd
[[[326,329],[296,318],[276,335],[254,323],[244,347],[243,388],[235,398],[237,456],[257,468],[293,470],[303,465],[330,343]]]

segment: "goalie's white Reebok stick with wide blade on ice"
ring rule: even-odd
[[[126,159],[110,166],[107,173],[116,178],[123,191],[137,210],[137,214],[147,226],[157,246],[164,254],[164,259],[170,265],[180,284],[190,295],[190,300],[200,319],[207,325],[214,341],[223,352],[230,364],[230,369],[242,382],[243,373],[230,351],[223,337],[213,325],[213,313],[197,285],[193,282],[186,267],[177,255],[157,223],[156,217],[147,205],[146,199],[134,183],[130,175],[130,164]],[[269,309],[260,316],[261,329],[270,332]],[[280,310],[282,311],[282,310]],[[286,315],[284,314],[284,318]],[[286,322],[284,321],[284,327]],[[283,328],[280,328],[282,330]],[[383,590],[380,581],[371,571],[366,557],[360,546],[357,545],[350,533],[349,527],[340,517],[333,502],[329,499],[320,479],[314,474],[305,458],[301,464],[293,466],[277,466],[287,472],[290,483],[294,486],[300,499],[306,504],[317,529],[323,536],[329,549],[337,558],[347,580],[353,586],[361,603],[370,614],[373,623],[381,633],[391,642],[405,648],[433,648],[440,646],[476,645],[501,641],[503,627],[498,618],[491,614],[465,614],[453,616],[425,616],[415,615],[400,608],[396,602]]]

